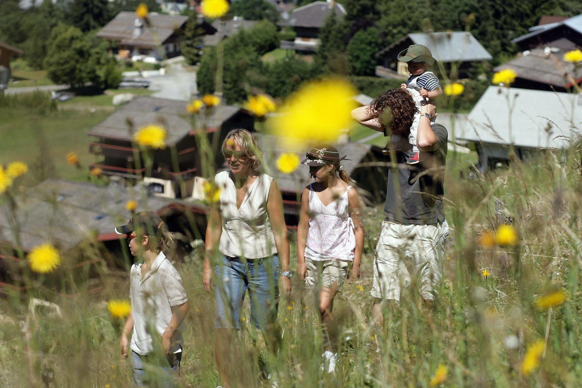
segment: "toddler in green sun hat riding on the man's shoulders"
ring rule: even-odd
[[[416,133],[418,130],[418,123],[420,122],[420,108],[428,103],[428,99],[441,96],[442,89],[438,83],[437,76],[427,69],[433,66],[437,61],[432,57],[431,51],[428,47],[421,44],[411,44],[407,49],[400,51],[398,54],[398,61],[406,62],[408,64],[409,79],[406,83],[400,85],[400,89],[406,89],[412,94],[414,104],[418,108],[418,113],[414,115],[414,121],[410,127],[410,135],[408,137],[409,143],[412,144],[412,153],[407,155],[407,164],[420,163],[420,151],[416,143]],[[434,101],[430,101],[434,105]],[[432,117],[431,125],[434,124],[435,118]],[[400,135],[392,135],[391,143],[400,141]],[[388,154],[391,149],[391,144],[386,144],[382,152]]]

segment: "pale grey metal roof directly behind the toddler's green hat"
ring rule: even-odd
[[[490,61],[493,59],[473,34],[466,31],[407,34],[402,39],[378,51],[376,55],[383,55],[391,51],[407,39],[410,39],[413,44],[422,44],[428,47],[432,57],[439,62]],[[398,52],[393,54],[396,57]]]

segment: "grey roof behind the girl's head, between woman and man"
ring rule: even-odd
[[[255,136],[257,137],[260,149],[265,154],[265,164],[267,164],[267,166],[263,165],[262,170],[275,178],[275,182],[277,182],[281,191],[302,192],[310,181],[309,167],[301,164],[292,174],[282,174],[277,170],[276,161],[282,153],[288,152],[281,147],[283,139],[273,135],[255,134]],[[352,174],[352,172],[356,170],[361,160],[372,148],[371,144],[356,142],[336,144],[335,147],[338,149],[340,156],[347,155],[347,158],[350,159],[342,161],[343,168],[345,168],[348,174]],[[306,148],[299,153],[300,160],[305,158],[305,154],[309,150],[310,148]]]

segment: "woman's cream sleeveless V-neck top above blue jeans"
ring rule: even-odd
[[[222,234],[218,250],[225,256],[260,259],[277,253],[275,237],[267,213],[267,200],[273,178],[261,174],[255,179],[236,208],[236,186],[230,171],[214,177],[221,188]]]

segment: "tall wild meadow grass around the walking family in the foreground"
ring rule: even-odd
[[[367,209],[361,280],[346,285],[334,306],[335,329],[342,338],[339,369],[335,375],[322,375],[317,306],[313,294],[294,280],[293,292],[279,303],[279,386],[424,387],[441,364],[448,369],[446,386],[579,385],[580,148],[580,143],[572,144],[565,151],[565,163],[559,153],[547,151],[536,160],[514,160],[507,170],[472,180],[460,179],[460,166],[449,165],[445,198],[453,233],[446,244],[437,302],[428,311],[412,285],[400,304],[386,309],[384,329],[371,322],[369,295],[382,212]],[[519,246],[491,249],[478,244],[482,230],[495,228],[495,199],[505,201],[519,231]],[[180,380],[183,386],[212,387],[219,383],[214,297],[200,287],[202,257],[196,252],[184,263],[175,263],[191,303],[184,322]],[[87,245],[83,253],[101,258],[95,246]],[[292,259],[292,267],[294,263]],[[118,354],[122,322],[110,318],[105,307],[108,299],[127,297],[128,268],[112,270],[104,260],[90,265],[98,274],[90,281],[64,275],[59,279],[72,296],[38,287],[38,278],[26,292],[6,295],[0,304],[4,386],[40,386],[43,379],[58,387],[130,386],[129,362]],[[483,268],[490,276],[482,276]],[[102,290],[89,292],[96,285]],[[567,294],[565,304],[551,311],[535,308],[535,298],[553,290]],[[59,305],[62,316],[45,308],[32,320],[28,306],[33,297]],[[242,317],[232,381],[244,387],[268,386],[261,375],[267,351],[249,324],[248,304]],[[8,342],[13,338],[18,339]],[[546,343],[545,355],[537,371],[526,376],[520,372],[524,352],[540,338]]]

